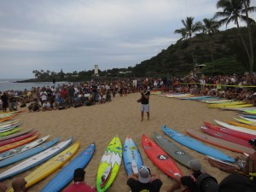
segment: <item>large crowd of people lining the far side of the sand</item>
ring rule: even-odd
[[[78,108],[96,103],[110,102],[116,94],[127,96],[143,90],[147,84],[150,90],[161,90],[170,93],[189,93],[197,96],[216,96],[219,98],[247,101],[256,104],[256,74],[218,75],[183,78],[143,78],[114,79],[108,81],[88,81],[74,84],[58,84],[57,86],[32,87],[32,90],[0,91],[0,108],[3,112],[26,107],[31,112],[53,109]]]

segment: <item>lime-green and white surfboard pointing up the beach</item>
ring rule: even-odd
[[[119,137],[113,137],[102,155],[96,176],[98,192],[106,191],[113,183],[122,162],[123,148]]]

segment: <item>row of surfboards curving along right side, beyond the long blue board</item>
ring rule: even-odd
[[[201,126],[201,131],[207,133],[202,134],[197,131],[187,130],[190,136],[195,137],[204,143],[229,149],[237,153],[253,154],[252,146],[248,144],[248,140],[256,137],[256,108],[247,102],[224,100],[212,96],[192,96],[189,94],[159,94],[159,96],[167,96],[170,98],[178,98],[183,100],[191,100],[197,102],[206,102],[210,108],[221,108],[228,110],[236,110],[239,118],[236,121],[221,122],[214,120],[218,125],[212,125],[205,122]],[[221,161],[220,159],[214,159]],[[226,160],[224,163],[230,165]],[[232,166],[236,166],[235,164]]]

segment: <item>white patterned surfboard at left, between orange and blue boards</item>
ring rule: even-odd
[[[27,143],[27,144],[22,145],[22,146],[20,146],[18,148],[12,148],[12,149],[10,149],[8,151],[5,151],[5,152],[0,154],[0,160],[4,160],[6,158],[15,156],[16,154],[23,153],[23,152],[25,152],[25,151],[27,151],[27,150],[29,150],[31,148],[35,148],[39,144],[44,143],[44,141],[46,141],[48,138],[49,138],[49,136],[46,136],[46,137],[40,138],[37,141],[34,141],[32,143]]]

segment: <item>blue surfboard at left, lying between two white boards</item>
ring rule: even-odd
[[[5,160],[1,160],[0,161],[0,167],[3,167],[3,166],[8,166],[12,163],[15,163],[19,160],[24,160],[34,154],[38,154],[42,151],[44,151],[45,149],[53,146],[55,143],[57,143],[59,140],[61,139],[61,137],[57,137],[55,138],[54,140],[48,142],[48,143],[44,143],[42,145],[39,145],[38,147],[36,148],[32,148],[32,149],[29,149],[23,153],[20,153],[20,154],[16,154],[15,156],[12,156],[12,157],[9,157],[8,159],[5,159]]]

